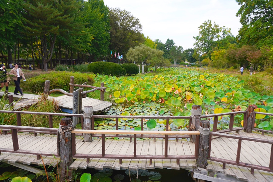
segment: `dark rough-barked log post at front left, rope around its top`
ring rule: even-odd
[[[60,155],[60,181],[70,180],[69,166],[73,163],[72,133],[74,129],[71,118],[62,118],[58,129],[58,154]]]

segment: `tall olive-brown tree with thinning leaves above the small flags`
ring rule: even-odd
[[[142,44],[145,39],[142,32],[142,25],[139,19],[126,10],[120,8],[112,9],[110,17],[110,49],[120,53],[126,53],[130,48]]]

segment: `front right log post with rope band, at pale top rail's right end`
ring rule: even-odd
[[[207,166],[207,157],[209,149],[209,137],[210,137],[210,122],[208,120],[202,120],[200,122],[199,131],[199,149],[198,149],[198,158],[196,160],[197,167],[206,168]],[[207,130],[206,130],[207,129]]]

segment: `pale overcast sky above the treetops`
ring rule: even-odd
[[[235,0],[104,0],[104,4],[131,12],[140,20],[145,37],[163,43],[173,39],[184,50],[194,48],[193,36],[208,19],[231,28],[234,36],[241,28],[240,17],[236,17],[240,6]]]

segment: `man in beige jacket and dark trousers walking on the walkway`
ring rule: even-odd
[[[22,71],[22,69],[18,68],[19,63],[15,62],[14,63],[14,68],[12,68],[9,72],[10,75],[12,75],[12,79],[15,83],[15,89],[14,89],[14,95],[19,95],[18,92],[21,93],[21,96],[24,95],[21,88],[20,88],[20,78],[22,77],[23,81],[26,81],[25,75]]]

